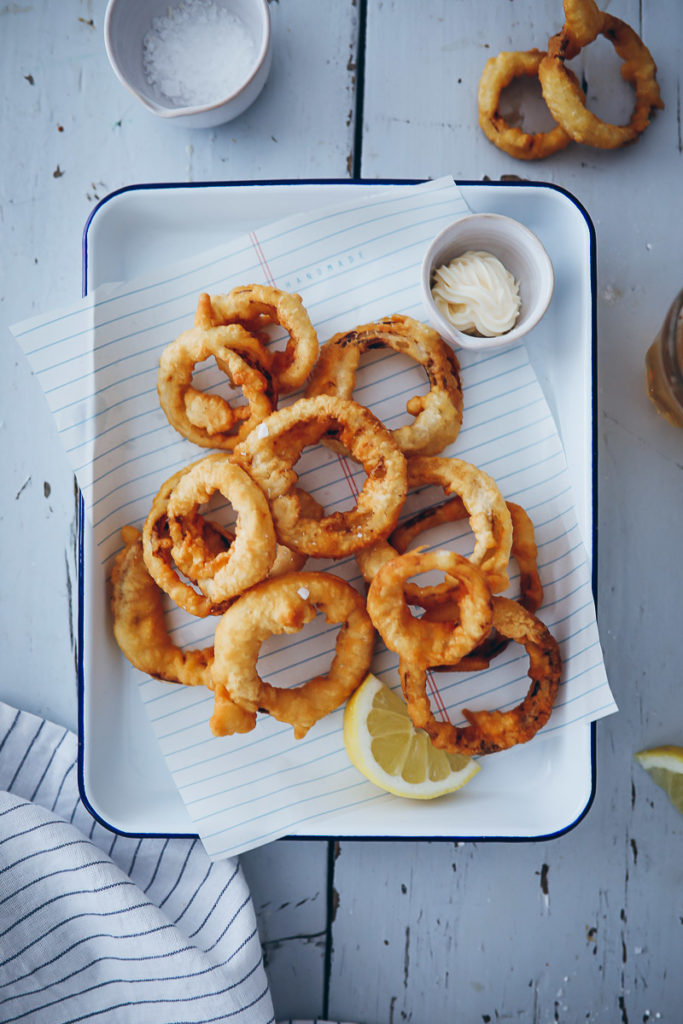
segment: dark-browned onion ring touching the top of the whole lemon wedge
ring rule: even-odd
[[[405,556],[403,556],[405,557]],[[426,691],[427,668],[401,658],[398,672],[413,724],[428,733],[434,746],[450,754],[495,754],[525,743],[546,724],[553,710],[561,675],[557,641],[547,627],[516,601],[494,598],[494,628],[522,644],[529,657],[531,683],[523,700],[510,711],[464,710],[468,725],[437,721]]]

